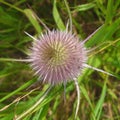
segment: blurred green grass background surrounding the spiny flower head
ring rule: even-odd
[[[73,31],[84,40],[99,26],[102,28],[86,43],[91,52],[88,64],[116,77],[85,69],[78,77],[81,104],[77,120],[120,119],[120,0],[0,0],[0,120],[17,119],[42,98],[49,85],[38,83],[27,63],[33,41],[25,35],[39,35],[45,28],[32,10],[52,29],[65,29],[72,15]],[[58,20],[59,19],[59,20]],[[76,89],[71,81],[66,87],[55,86],[34,111],[22,120],[73,120]],[[17,119],[18,120],[18,119]]]

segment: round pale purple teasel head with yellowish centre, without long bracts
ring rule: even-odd
[[[86,62],[84,42],[71,32],[53,30],[33,42],[31,66],[43,82],[58,84],[77,77]]]

